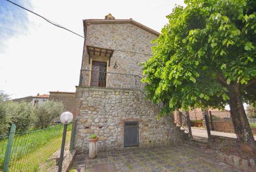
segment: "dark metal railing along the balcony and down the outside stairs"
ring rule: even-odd
[[[93,77],[93,78],[92,78]],[[121,88],[121,89],[137,89],[146,95],[144,91],[145,83],[141,82],[141,77],[125,73],[106,72],[105,69],[87,70],[83,69],[80,72],[79,86],[106,87],[106,88]],[[156,104],[160,109],[163,108],[163,103]],[[192,137],[189,117],[182,112],[168,114],[179,126],[189,133]]]

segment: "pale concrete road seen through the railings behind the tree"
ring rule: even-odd
[[[201,128],[197,129],[195,127],[191,127],[191,131],[192,131],[193,136],[208,138],[206,129],[201,129]],[[216,136],[237,138],[237,135],[234,133],[224,133],[224,132],[218,132],[218,131],[210,131],[210,133],[211,133],[211,135],[216,135]],[[254,136],[254,140],[256,140],[256,136]]]

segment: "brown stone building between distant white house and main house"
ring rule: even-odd
[[[63,112],[74,113],[75,92],[50,91],[49,101],[61,102],[64,106]]]

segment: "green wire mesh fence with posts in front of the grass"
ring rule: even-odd
[[[67,131],[66,145],[71,139],[71,124]],[[59,158],[62,134],[62,124],[31,132],[15,132],[12,125],[10,133],[0,136],[0,171],[52,171]]]

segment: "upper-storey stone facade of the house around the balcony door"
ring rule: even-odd
[[[132,23],[94,24],[89,21],[87,23],[86,35],[86,45],[114,50],[110,66],[107,69],[108,72],[139,76],[142,76],[142,66],[140,66],[140,63],[145,62],[151,57],[151,47],[153,45],[151,41],[157,38],[156,35]],[[102,56],[92,56],[91,60],[109,63],[109,58]],[[115,62],[117,62],[117,68],[114,68]],[[87,50],[84,50],[83,69],[91,70],[91,64],[89,64]],[[115,81],[120,81],[116,77],[119,77],[119,79],[123,78],[123,76],[109,76],[108,79],[114,79],[114,77]],[[114,83],[114,81],[111,81],[111,83]],[[119,83],[117,84],[119,85]],[[83,71],[82,86],[90,86],[90,73],[87,71]]]

